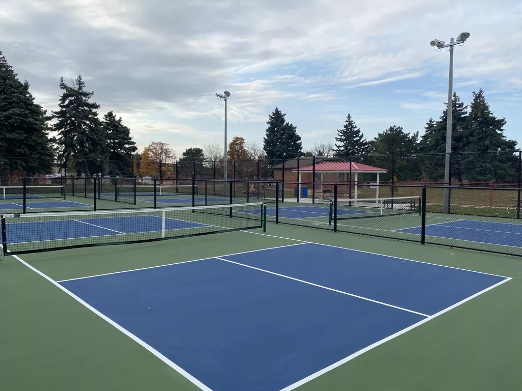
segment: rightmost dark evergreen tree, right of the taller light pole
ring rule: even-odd
[[[473,92],[469,119],[465,131],[468,152],[497,151],[497,153],[469,153],[462,159],[465,179],[471,181],[514,182],[517,180],[517,156],[511,152],[517,142],[504,136],[505,118],[496,118],[485,100],[484,91]]]

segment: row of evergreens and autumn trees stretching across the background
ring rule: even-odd
[[[100,119],[100,105],[92,101],[79,75],[66,83],[60,79],[62,91],[58,110],[48,115],[34,102],[28,81],[19,81],[13,68],[0,52],[0,176],[22,171],[29,175],[49,173],[55,160],[69,175],[157,176],[174,175],[176,155],[164,142],[151,142],[138,153],[130,129],[112,111]],[[517,156],[503,153],[516,149],[517,142],[504,136],[504,118],[490,111],[484,91],[473,92],[469,105],[453,94],[452,177],[487,181],[514,181],[517,176]],[[296,126],[287,121],[278,107],[268,116],[263,145],[247,143],[235,137],[228,145],[228,172],[235,169],[242,177],[255,176],[260,161],[265,172],[269,167],[298,156],[344,157],[388,169],[384,179],[399,180],[444,177],[444,152],[447,110],[434,120],[430,118],[419,138],[419,132],[407,133],[393,125],[366,140],[355,119],[348,114],[345,124],[337,130],[334,141],[315,143],[303,150]],[[49,137],[50,132],[55,137]],[[477,152],[493,151],[483,155]],[[461,154],[458,154],[461,153]],[[222,172],[223,148],[207,144],[203,148],[188,148],[177,160],[181,176],[189,173]],[[438,155],[428,155],[438,154]],[[391,155],[396,155],[390,162]],[[236,163],[232,163],[236,161]],[[232,164],[234,166],[232,167]]]

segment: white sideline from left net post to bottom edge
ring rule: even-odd
[[[111,324],[113,327],[115,327],[116,329],[118,329],[119,331],[121,331],[123,334],[125,334],[127,337],[131,338],[132,340],[134,340],[135,342],[137,342],[139,345],[143,346],[145,349],[147,349],[149,352],[151,352],[153,355],[155,355],[157,358],[159,358],[161,361],[163,361],[165,364],[169,365],[170,368],[172,368],[174,371],[176,371],[177,373],[181,374],[183,377],[185,377],[189,382],[191,382],[192,384],[196,385],[197,387],[199,387],[200,389],[204,390],[204,391],[212,391],[209,387],[207,387],[205,384],[201,383],[199,380],[197,380],[194,376],[192,376],[191,374],[189,374],[188,372],[186,372],[183,368],[181,368],[180,366],[176,365],[173,361],[169,360],[167,357],[163,356],[159,351],[157,351],[156,349],[154,349],[153,347],[151,347],[150,345],[148,345],[147,343],[145,343],[143,340],[139,339],[137,336],[135,336],[134,334],[132,334],[131,332],[129,332],[127,329],[123,328],[122,326],[120,326],[119,324],[117,324],[116,322],[114,322],[112,319],[110,319],[110,317],[108,316],[105,316],[104,314],[102,314],[100,311],[98,311],[96,308],[90,306],[87,302],[85,302],[84,300],[80,299],[78,296],[76,296],[75,294],[73,294],[73,292],[71,292],[70,290],[68,290],[67,288],[63,287],[62,285],[58,284],[55,280],[53,280],[51,277],[49,277],[48,275],[40,272],[37,268],[34,268],[33,266],[31,266],[30,264],[28,264],[27,262],[25,262],[24,260],[22,260],[19,256],[17,255],[13,255],[19,262],[21,262],[23,265],[27,266],[28,268],[30,268],[33,272],[39,274],[40,276],[42,276],[43,278],[45,278],[46,280],[48,280],[51,284],[53,284],[55,287],[57,287],[58,289],[61,289],[62,291],[64,291],[67,295],[69,295],[70,297],[72,297],[73,299],[75,299],[76,301],[78,301],[80,304],[82,304],[82,306],[86,307],[87,309],[89,309],[90,311],[92,311],[93,313],[95,313],[96,315],[98,315],[99,317],[101,317],[101,319],[103,319],[104,321],[108,322],[109,324]]]

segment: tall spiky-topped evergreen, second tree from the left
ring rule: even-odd
[[[72,86],[60,79],[58,111],[53,111],[56,119],[54,130],[58,133],[58,158],[65,164],[73,158],[76,170],[86,175],[103,173],[108,170],[109,158],[105,133],[98,119],[100,105],[90,102],[94,92],[85,90],[85,82],[79,75]]]

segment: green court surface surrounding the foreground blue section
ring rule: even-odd
[[[372,224],[372,219],[366,221]],[[396,228],[402,225],[399,221]],[[412,225],[406,221],[404,226]],[[198,389],[35,270],[63,280],[287,246],[295,243],[291,239],[512,277],[296,389],[520,389],[522,259],[276,224],[269,224],[266,235],[254,229],[21,255],[27,265],[6,256],[0,264],[0,389]]]

